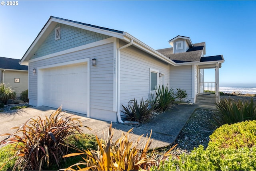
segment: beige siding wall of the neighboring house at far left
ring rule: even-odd
[[[15,83],[14,79],[19,79],[19,83]],[[20,97],[20,93],[28,89],[28,72],[27,71],[5,71],[4,83],[7,86],[12,87],[16,92],[17,98]]]

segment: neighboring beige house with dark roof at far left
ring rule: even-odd
[[[28,66],[20,65],[20,59],[0,57],[0,83],[5,83],[16,92],[20,93],[28,89]]]

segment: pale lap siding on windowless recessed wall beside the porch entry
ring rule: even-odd
[[[171,66],[170,67],[170,86],[176,92],[176,88],[187,91],[188,97],[192,98],[192,65]]]

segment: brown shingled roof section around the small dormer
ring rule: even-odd
[[[172,53],[172,47],[166,49],[159,49],[158,52],[162,53],[164,56],[168,57],[175,63],[183,62],[194,62],[200,61],[205,42],[194,43],[194,47],[190,47],[186,52],[183,53]]]

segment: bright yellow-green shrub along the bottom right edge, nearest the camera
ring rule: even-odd
[[[200,145],[189,155],[169,158],[152,170],[255,170],[256,146],[240,149],[204,149]]]

